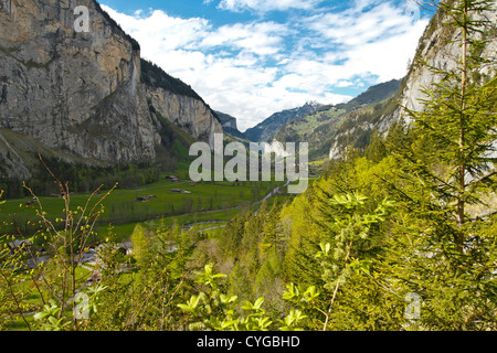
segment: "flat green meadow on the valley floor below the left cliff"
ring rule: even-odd
[[[98,233],[106,233],[112,224],[117,233],[127,237],[137,223],[165,218],[168,225],[184,225],[205,221],[229,221],[236,213],[248,210],[278,183],[276,182],[207,182],[190,184],[186,180],[172,182],[162,175],[159,182],[136,190],[106,190],[99,194],[71,194],[70,207],[87,212],[96,204],[104,207],[98,223]],[[281,184],[281,183],[279,183]],[[177,193],[180,189],[189,193]],[[146,202],[139,197],[149,197]],[[89,200],[89,202],[88,202]],[[39,227],[36,212],[45,212],[52,221],[64,216],[62,197],[43,196],[6,200],[0,206],[0,234],[30,235]],[[31,205],[32,203],[32,205]],[[87,213],[86,212],[86,213]]]

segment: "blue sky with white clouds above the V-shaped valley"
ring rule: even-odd
[[[433,14],[414,0],[99,0],[141,45],[245,129],[309,100],[401,78]]]

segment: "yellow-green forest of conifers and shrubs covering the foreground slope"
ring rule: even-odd
[[[61,183],[62,231],[40,212],[33,235],[50,261],[25,269],[29,245],[1,242],[0,329],[497,330],[497,78],[478,71],[470,17],[493,1],[441,6],[459,65],[432,67],[424,110],[347,147],[303,194],[211,233],[138,226],[131,254],[109,228],[88,285],[77,257],[105,210],[72,210]]]

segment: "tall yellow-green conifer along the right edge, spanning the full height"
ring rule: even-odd
[[[453,69],[430,67],[441,79],[425,87],[422,111],[406,109],[413,128],[395,150],[401,181],[390,182],[402,211],[382,266],[396,293],[423,298],[417,328],[495,329],[496,216],[485,201],[497,180],[497,79],[482,75],[488,61],[479,55],[495,33],[486,18],[495,3],[440,7],[461,57]]]

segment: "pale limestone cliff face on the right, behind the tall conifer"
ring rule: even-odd
[[[482,66],[479,74],[482,77],[495,76],[497,72],[497,31],[495,24],[497,23],[497,9],[494,7],[493,11],[485,11],[478,17],[487,20],[493,25],[487,25],[480,29],[485,35],[485,46],[480,52],[480,56],[488,60],[488,63]],[[370,133],[374,128],[381,133],[387,133],[392,124],[401,117],[410,122],[409,115],[403,107],[412,110],[421,111],[424,108],[420,99],[425,99],[423,88],[429,88],[433,83],[441,81],[441,77],[435,75],[430,66],[443,71],[455,69],[458,61],[462,57],[461,47],[461,31],[454,31],[450,26],[443,25],[447,19],[442,11],[438,11],[431,20],[423,36],[420,39],[416,56],[426,61],[427,65],[420,65],[413,63],[411,65],[408,76],[401,85],[401,89],[394,97],[395,104],[385,103],[383,105],[384,111],[376,121],[368,120],[364,115],[350,115],[349,125],[352,129],[342,131],[334,138],[334,143],[329,152],[330,159],[336,159],[341,156],[343,150],[343,141],[347,133],[364,135]],[[393,106],[394,105],[394,106]]]

